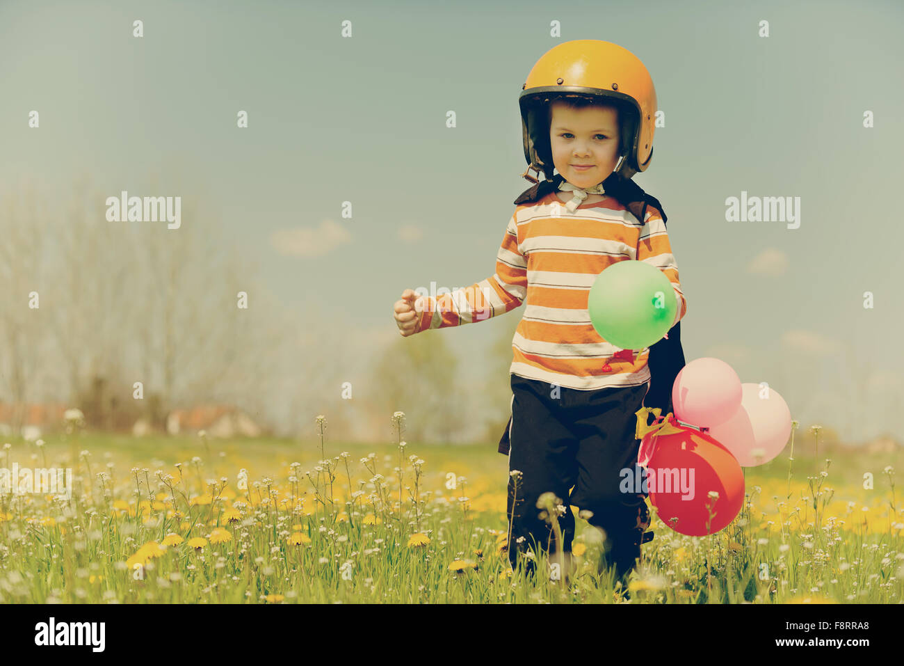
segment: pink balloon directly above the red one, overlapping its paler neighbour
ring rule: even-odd
[[[738,373],[718,358],[696,358],[672,385],[675,418],[698,427],[725,423],[740,406]]]

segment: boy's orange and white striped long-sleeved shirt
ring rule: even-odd
[[[673,325],[687,312],[662,216],[647,206],[645,218],[640,224],[611,196],[579,205],[574,214],[554,192],[518,205],[494,275],[436,299],[419,299],[419,330],[490,319],[526,301],[512,340],[513,375],[585,391],[645,384],[651,378],[649,348],[632,353],[609,344],[593,328],[587,308],[599,273],[616,262],[639,260],[672,282],[679,304]]]

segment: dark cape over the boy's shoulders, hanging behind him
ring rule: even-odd
[[[560,174],[556,174],[552,176],[552,180],[544,180],[537,183],[537,185],[524,191],[521,196],[515,199],[514,204],[521,205],[539,201],[551,192],[557,192],[563,180],[564,178]],[[626,180],[613,173],[603,181],[602,185],[603,189],[606,190],[606,195],[615,197],[641,224],[644,223],[647,205],[652,205],[659,211],[663,216],[663,224],[667,222],[665,211],[659,201],[653,196],[647,195],[633,180]],[[680,303],[679,307],[681,307]],[[680,321],[669,329],[668,338],[663,338],[654,343],[653,347],[650,347],[647,365],[650,367],[650,390],[646,393],[644,406],[651,409],[659,407],[662,409],[662,415],[664,416],[673,411],[672,385],[675,377],[678,376],[678,373],[684,367]],[[509,453],[509,429],[511,426],[512,417],[510,415],[502,439],[499,440],[499,452],[504,455]]]

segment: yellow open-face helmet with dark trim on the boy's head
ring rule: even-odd
[[[619,110],[619,161],[615,173],[631,178],[653,158],[656,91],[650,72],[636,55],[618,44],[596,39],[560,43],[533,65],[518,98],[527,169],[552,178],[549,104],[566,97],[605,100]]]

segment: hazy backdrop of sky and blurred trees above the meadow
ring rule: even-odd
[[[96,430],[313,440],[325,414],[386,442],[403,411],[409,441],[494,446],[523,308],[401,338],[392,305],[494,273],[531,185],[527,73],[602,39],[664,111],[635,180],[668,216],[687,361],[768,382],[821,439],[894,446],[902,27],[879,0],[4,0],[0,429],[78,407]],[[181,196],[180,228],[109,222],[124,190]],[[799,228],[726,221],[742,191],[799,196]]]

